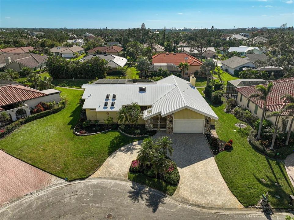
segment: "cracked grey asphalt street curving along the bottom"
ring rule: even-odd
[[[56,185],[0,208],[2,220],[79,219],[285,219],[242,211],[207,211],[165,197],[157,190],[118,180],[92,179]]]

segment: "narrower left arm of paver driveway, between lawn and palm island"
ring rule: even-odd
[[[89,178],[128,180],[130,164],[138,155],[138,142],[141,143],[141,141],[136,141],[113,152]]]

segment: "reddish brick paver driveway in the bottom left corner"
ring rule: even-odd
[[[0,150],[0,206],[64,180]]]

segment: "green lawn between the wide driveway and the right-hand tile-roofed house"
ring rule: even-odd
[[[203,88],[198,89],[203,95]],[[209,100],[208,103],[211,105]],[[211,108],[219,120],[215,127],[219,138],[224,141],[233,139],[233,150],[215,156],[222,177],[229,189],[245,207],[256,205],[263,193],[269,192],[272,207],[288,208],[288,197],[294,194],[283,163],[271,160],[252,149],[247,141],[250,128],[240,132],[234,126],[238,123],[235,116],[225,113],[224,104]],[[236,131],[234,131],[236,130]],[[263,183],[261,179],[265,179]],[[279,186],[275,183],[278,182]],[[275,195],[281,196],[280,199]]]

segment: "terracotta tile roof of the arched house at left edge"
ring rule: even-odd
[[[0,106],[26,101],[33,98],[46,96],[47,94],[29,87],[20,85],[7,85],[0,87]]]

